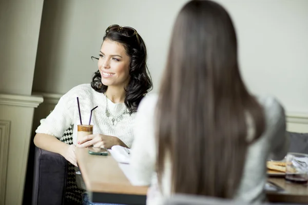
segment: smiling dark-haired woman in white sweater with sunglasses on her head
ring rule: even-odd
[[[76,165],[75,148],[114,145],[130,148],[132,125],[141,99],[152,88],[148,73],[147,52],[142,37],[131,27],[112,25],[107,28],[99,51],[98,71],[91,84],[72,88],[61,97],[54,110],[41,120],[36,129],[34,144],[44,150],[64,156]],[[79,98],[77,104],[76,98]],[[83,125],[92,113],[93,134],[77,140],[76,125]],[[89,124],[90,124],[89,122]],[[73,145],[57,140],[70,125],[73,127]],[[77,186],[83,190],[84,204],[88,202],[81,175],[76,175]]]

